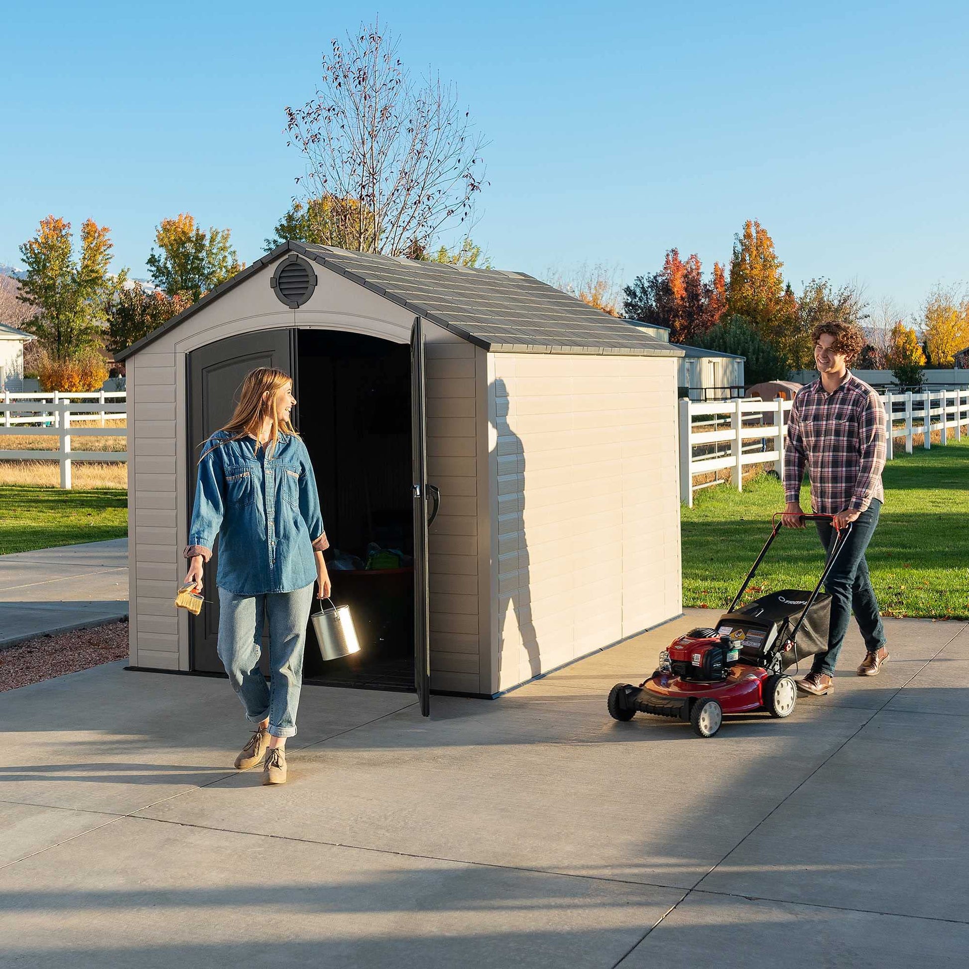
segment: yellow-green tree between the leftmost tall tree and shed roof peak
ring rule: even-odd
[[[211,228],[206,233],[187,212],[162,219],[155,244],[159,251],[152,248],[147,259],[154,284],[170,297],[181,293],[191,302],[245,265],[238,260],[228,229]]]

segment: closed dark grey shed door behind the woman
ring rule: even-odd
[[[188,509],[195,502],[196,465],[208,436],[233,416],[238,391],[245,375],[258,366],[284,370],[294,378],[297,359],[295,329],[266,329],[243,333],[210,343],[188,355]],[[188,522],[185,523],[186,532]],[[198,616],[189,616],[189,655],[193,670],[223,672],[216,652],[219,631],[218,591],[215,587],[216,559],[205,567],[205,605]]]

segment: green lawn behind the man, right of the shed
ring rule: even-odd
[[[903,451],[886,465],[882,480],[885,506],[867,559],[883,612],[969,618],[969,438]],[[805,484],[801,507],[809,504]],[[780,482],[768,475],[742,493],[731,485],[698,492],[694,508],[682,510],[684,605],[729,605],[766,541],[771,514],[783,507]],[[820,549],[812,526],[785,529],[753,585],[764,592],[811,588],[823,564]]]

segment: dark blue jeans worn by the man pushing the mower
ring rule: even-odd
[[[814,658],[811,672],[826,672],[834,675],[841,644],[848,632],[848,622],[852,611],[864,638],[865,648],[879,649],[885,645],[885,630],[878,611],[871,578],[868,576],[868,563],[864,552],[878,524],[882,503],[876,498],[871,505],[852,523],[851,535],[845,547],[838,553],[834,567],[825,582],[825,590],[831,597],[831,625],[828,631],[828,652],[819,653]],[[830,550],[834,541],[834,528],[827,521],[817,521],[818,535],[822,545]]]

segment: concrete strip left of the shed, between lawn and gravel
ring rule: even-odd
[[[0,649],[127,614],[127,539],[0,555]]]

